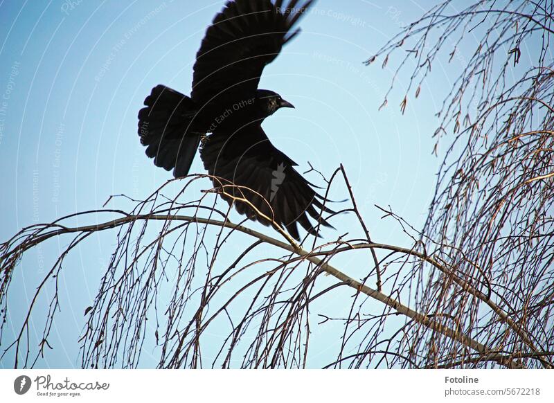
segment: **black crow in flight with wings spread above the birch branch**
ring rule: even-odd
[[[267,138],[262,121],[293,105],[258,83],[265,65],[300,31],[294,27],[312,1],[227,2],[202,40],[190,97],[158,85],[139,112],[141,143],[157,166],[185,176],[202,139],[204,168],[222,179],[212,179],[222,197],[251,220],[285,226],[296,240],[297,222],[317,235],[308,215],[330,226],[320,212],[332,211]]]

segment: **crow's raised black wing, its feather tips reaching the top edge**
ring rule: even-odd
[[[270,0],[235,0],[226,3],[206,31],[196,56],[191,98],[204,105],[213,97],[243,99],[258,88],[260,75],[284,44],[313,0],[272,3]]]

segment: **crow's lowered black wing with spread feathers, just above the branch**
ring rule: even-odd
[[[296,240],[300,239],[297,222],[312,235],[317,235],[308,216],[330,226],[321,217],[321,211],[333,211],[323,206],[323,197],[294,169],[296,163],[271,144],[259,123],[251,123],[235,134],[211,134],[202,145],[200,155],[209,174],[224,179],[224,185],[237,186],[227,187],[227,193],[247,199],[262,215],[285,226]],[[220,186],[217,180],[213,183]],[[222,197],[229,204],[233,202],[233,197]],[[247,203],[234,201],[240,214],[269,225],[269,220]]]

